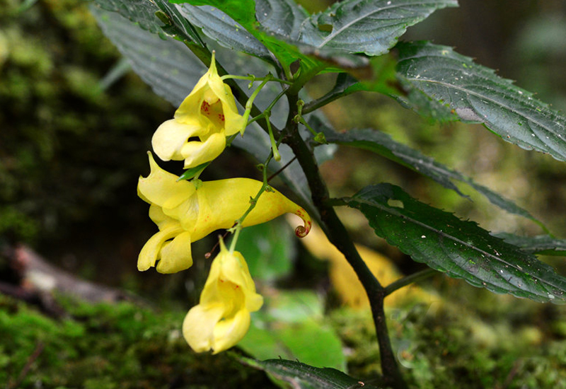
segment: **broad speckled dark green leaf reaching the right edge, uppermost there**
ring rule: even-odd
[[[400,43],[398,73],[463,122],[479,122],[523,149],[566,161],[566,118],[451,47]]]

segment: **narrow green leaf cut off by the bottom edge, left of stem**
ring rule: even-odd
[[[285,359],[266,361],[255,361],[245,357],[240,359],[249,366],[291,383],[296,389],[377,389],[376,386],[352,378],[335,368],[318,368]]]

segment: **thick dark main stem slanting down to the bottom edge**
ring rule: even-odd
[[[287,95],[287,97],[289,98],[289,107],[296,107],[297,96]],[[313,203],[320,213],[320,221],[322,221],[321,228],[323,228],[330,242],[345,255],[366,290],[371,306],[371,313],[374,318],[374,325],[376,327],[383,382],[395,389],[405,389],[407,388],[407,384],[403,380],[403,376],[401,376],[395,354],[393,354],[393,349],[391,348],[386,316],[383,310],[383,299],[386,297],[386,289],[381,286],[364,260],[362,260],[362,257],[359,256],[359,252],[355,248],[352,239],[350,239],[342,221],[338,218],[334,208],[328,205],[328,187],[326,187],[320,175],[320,170],[318,170],[318,164],[314,158],[313,151],[308,148],[305,141],[299,135],[297,123],[294,122],[294,117],[297,113],[298,112],[289,112],[283,134],[284,143],[291,147],[297,161],[299,161],[301,168],[304,170],[308,187],[311,189]]]

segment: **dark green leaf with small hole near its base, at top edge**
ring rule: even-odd
[[[410,25],[456,0],[345,0],[303,23],[301,43],[316,50],[380,55],[389,51]]]

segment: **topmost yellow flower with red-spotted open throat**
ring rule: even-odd
[[[226,147],[226,137],[242,131],[244,124],[230,87],[216,71],[213,54],[210,69],[174,118],[158,127],[151,145],[163,161],[185,160],[185,169],[193,168],[219,156]]]

